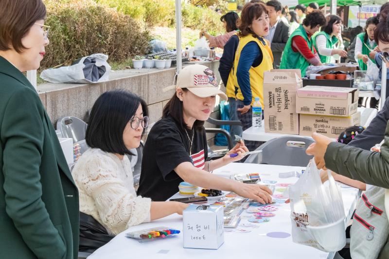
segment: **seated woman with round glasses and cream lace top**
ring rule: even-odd
[[[126,90],[105,92],[90,112],[86,132],[90,148],[77,161],[72,175],[79,190],[81,219],[93,217],[109,235],[173,213],[182,214],[187,207],[136,195],[126,154],[139,147],[149,122],[147,115],[146,103]]]

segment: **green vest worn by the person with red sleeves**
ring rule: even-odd
[[[283,56],[281,58],[280,69],[301,69],[301,76],[304,77],[305,70],[308,68],[310,63],[303,55],[301,55],[300,52],[294,52],[292,50],[292,39],[294,36],[303,37],[308,44],[308,48],[312,51],[312,53],[314,53],[312,39],[308,39],[308,35],[305,32],[304,27],[300,25],[300,27],[297,28],[292,35],[290,35],[288,41],[286,42],[285,49],[283,50]]]

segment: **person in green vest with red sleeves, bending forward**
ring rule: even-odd
[[[301,69],[301,76],[305,76],[305,70],[309,65],[321,66],[312,35],[325,23],[325,17],[320,11],[314,11],[306,16],[286,42],[280,69]]]

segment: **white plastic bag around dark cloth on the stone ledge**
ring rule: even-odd
[[[85,59],[93,58],[95,66],[99,69],[103,69],[104,73],[97,81],[91,81],[86,78],[87,71],[84,71],[86,65],[84,64]],[[60,67],[57,69],[46,69],[40,74],[40,78],[51,83],[99,83],[107,81],[109,79],[109,72],[111,66],[106,62],[108,56],[102,53],[92,54],[81,58],[77,64]]]

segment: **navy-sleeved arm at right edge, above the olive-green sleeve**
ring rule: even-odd
[[[385,136],[385,129],[389,121],[389,99],[385,101],[382,109],[377,113],[369,126],[361,134],[355,136],[348,146],[370,150],[372,146],[380,143]]]

